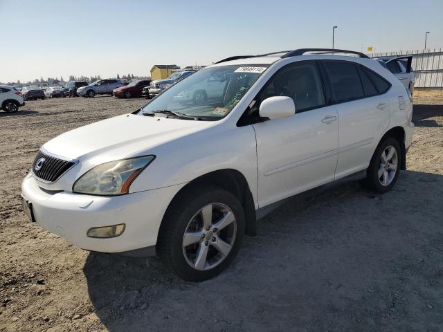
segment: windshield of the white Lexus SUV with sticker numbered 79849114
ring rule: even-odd
[[[143,115],[175,112],[201,120],[228,115],[269,65],[204,68],[170,86],[142,107]]]

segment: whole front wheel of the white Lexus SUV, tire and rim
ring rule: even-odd
[[[234,259],[244,228],[244,211],[233,194],[219,187],[196,187],[168,208],[159,255],[182,279],[201,282],[219,275]]]

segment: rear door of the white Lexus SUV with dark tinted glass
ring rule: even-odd
[[[340,119],[337,179],[368,167],[374,139],[389,124],[389,103],[383,95],[387,90],[377,90],[360,64],[341,60],[322,62]],[[373,75],[381,80],[379,75]]]

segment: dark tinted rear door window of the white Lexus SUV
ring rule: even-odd
[[[325,62],[327,73],[332,82],[336,102],[347,102],[364,97],[359,73],[354,64],[349,62]]]

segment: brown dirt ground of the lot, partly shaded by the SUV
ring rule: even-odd
[[[347,183],[291,199],[201,284],[156,258],[74,248],[21,212],[21,180],[44,142],[145,100],[0,112],[0,331],[442,331],[443,93],[414,98],[408,170],[392,191]]]

